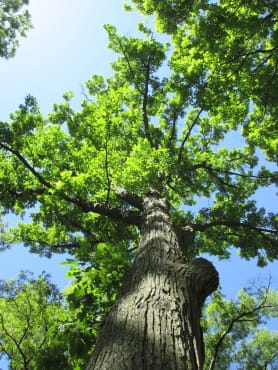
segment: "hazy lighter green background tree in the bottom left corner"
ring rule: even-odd
[[[0,289],[0,358],[7,356],[14,370],[69,368],[57,330],[61,295],[49,276],[21,272],[17,280],[1,280]]]

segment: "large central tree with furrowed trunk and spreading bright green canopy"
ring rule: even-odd
[[[91,78],[79,112],[66,93],[43,118],[28,96],[1,122],[1,204],[29,216],[2,243],[67,251],[88,269],[107,262],[100,245],[119,256],[108,279],[122,286],[87,369],[201,369],[218,273],[200,254],[277,258],[277,215],[254,199],[278,179],[277,9],[134,3],[170,44],[143,24],[142,38],[107,25],[114,75]]]

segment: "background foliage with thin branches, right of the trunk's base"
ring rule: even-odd
[[[278,333],[262,326],[277,318],[277,307],[277,291],[269,286],[243,289],[236,302],[214,293],[203,315],[205,369],[277,368]]]

